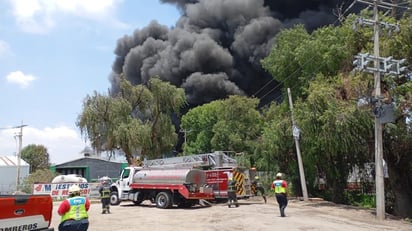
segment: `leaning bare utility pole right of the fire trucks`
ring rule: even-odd
[[[305,171],[303,170],[303,161],[302,161],[302,156],[300,153],[300,145],[299,145],[300,129],[296,125],[295,119],[293,118],[293,102],[292,102],[292,94],[290,93],[290,88],[288,88],[288,98],[289,98],[290,114],[291,114],[292,124],[293,124],[293,139],[295,140],[296,154],[298,156],[300,184],[302,186],[303,200],[308,201],[309,197],[308,197],[308,190],[306,189]]]

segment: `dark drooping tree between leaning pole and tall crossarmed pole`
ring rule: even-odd
[[[347,98],[351,94],[345,87],[350,83],[342,83],[339,77],[319,75],[310,83],[306,100],[298,100],[294,107],[305,168],[311,173],[305,175],[314,182],[324,173],[331,200],[337,203],[347,202],[343,192],[352,168],[371,161],[368,143],[373,137],[370,113],[357,109]]]

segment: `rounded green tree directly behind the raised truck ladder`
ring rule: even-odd
[[[185,131],[185,153],[206,153],[215,150],[254,152],[261,132],[259,101],[243,96],[230,96],[191,109],[182,117]]]

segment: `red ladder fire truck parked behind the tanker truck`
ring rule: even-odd
[[[212,153],[178,156],[143,162],[146,168],[196,168],[206,172],[206,183],[213,189],[214,200],[225,201],[228,198],[228,179],[236,181],[236,195],[239,199],[253,196],[252,183],[248,168],[239,166],[236,159],[223,151]]]

